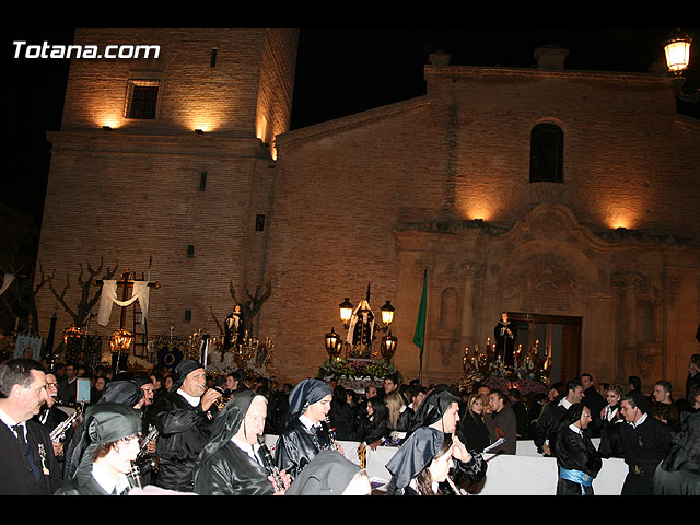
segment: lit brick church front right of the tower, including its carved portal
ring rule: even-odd
[[[545,55],[525,70],[433,56],[424,97],[278,139],[265,326],[294,375],[323,361],[325,331],[345,335],[338,303],[371,282],[375,312],[397,307],[396,363],[418,377],[428,268],[424,383],[457,381],[465,346],[506,310],[582,319],[570,374],[681,387],[700,319],[698,122],[675,114],[663,74]],[[563,183],[529,182],[540,122],[563,130]]]

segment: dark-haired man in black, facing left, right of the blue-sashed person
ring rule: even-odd
[[[651,416],[641,394],[623,396],[620,405],[626,423],[618,438],[629,467],[621,494],[652,495],[654,471],[670,452],[670,428]]]

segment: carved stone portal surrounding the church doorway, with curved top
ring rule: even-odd
[[[584,372],[625,386],[629,375],[646,385],[685,381],[687,363],[675,357],[697,327],[697,287],[682,287],[685,279],[697,281],[695,249],[623,232],[596,234],[552,202],[538,205],[509,230],[413,224],[396,238],[401,311],[416,310],[428,267],[422,366],[429,382],[458,381],[465,347],[493,338],[504,311],[530,329],[533,319],[549,332],[560,329],[555,381]],[[681,326],[685,339],[678,337]],[[412,376],[416,355],[402,358],[398,365]]]

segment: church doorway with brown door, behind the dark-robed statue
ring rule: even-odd
[[[551,383],[579,377],[582,317],[509,312],[509,319],[517,323],[515,349],[524,354],[537,348],[542,359],[549,357]]]

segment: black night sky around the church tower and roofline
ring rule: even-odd
[[[291,24],[290,24],[291,25]],[[0,200],[40,217],[50,148],[45,132],[60,127],[68,61],[14,58],[14,40],[69,44],[72,28],[1,28],[5,140]],[[662,57],[669,27],[304,27],[292,110],[301,128],[424,94],[423,65],[442,49],[452,63],[530,67],[541,45],[567,47],[568,69],[643,72]],[[697,33],[692,30],[692,33]],[[696,46],[697,47],[697,46]],[[608,50],[612,49],[612,52]],[[691,63],[700,63],[693,47]],[[696,69],[700,70],[700,67]],[[696,74],[689,80],[700,86]],[[682,113],[700,116],[700,104]]]

